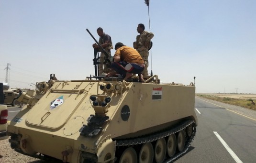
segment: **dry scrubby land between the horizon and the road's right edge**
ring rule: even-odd
[[[209,94],[209,93],[199,93],[196,96],[202,98],[208,98],[215,101],[220,101],[226,104],[237,105],[243,108],[256,110],[256,94]]]

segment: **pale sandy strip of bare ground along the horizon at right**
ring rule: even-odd
[[[217,96],[220,98],[241,98],[241,99],[253,99],[256,100],[256,94],[228,94],[228,93],[197,93],[196,95],[210,95]]]

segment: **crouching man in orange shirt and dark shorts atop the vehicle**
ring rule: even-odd
[[[123,80],[127,80],[138,74],[139,81],[144,82],[142,72],[145,68],[144,60],[140,54],[132,47],[123,43],[115,44],[114,62],[111,63],[111,69],[115,72],[108,73],[107,76],[120,74]]]

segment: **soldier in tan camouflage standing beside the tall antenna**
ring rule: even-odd
[[[140,34],[136,37],[136,41],[134,42],[134,49],[136,49],[144,59],[145,68],[142,73],[144,76],[148,76],[148,50],[150,49],[150,40],[154,37],[154,34],[144,30],[144,24],[138,24],[137,32]]]

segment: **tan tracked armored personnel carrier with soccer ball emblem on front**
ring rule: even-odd
[[[164,163],[195,137],[195,86],[114,78],[37,82],[11,120],[11,148],[68,163]]]

